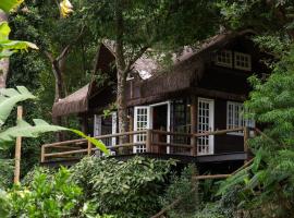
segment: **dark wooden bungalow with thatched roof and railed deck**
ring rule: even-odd
[[[168,70],[151,59],[139,59],[127,78],[128,133],[118,133],[115,111],[103,116],[115,100],[115,56],[107,44],[100,48],[97,68],[109,80],[100,86],[91,82],[61,99],[52,113],[77,114],[83,130],[103,141],[120,158],[139,154],[241,165],[248,159],[246,140],[255,128],[255,121],[243,116],[243,102],[250,90],[247,78],[269,73],[260,61],[267,57],[252,41],[253,35],[252,31],[219,34],[199,49],[188,48],[175,57]],[[120,145],[119,137],[125,134],[128,143]],[[76,154],[47,152],[59,144],[44,146],[42,161]],[[95,149],[90,145],[81,148],[87,154]]]

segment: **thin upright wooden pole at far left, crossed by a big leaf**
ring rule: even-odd
[[[17,120],[23,119],[23,107],[17,107]],[[14,183],[20,182],[20,174],[21,174],[21,150],[22,150],[22,137],[16,137],[15,144],[15,168],[14,168]]]

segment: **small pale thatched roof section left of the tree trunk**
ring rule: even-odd
[[[68,116],[70,113],[86,112],[88,110],[89,84],[53,105],[53,117]]]

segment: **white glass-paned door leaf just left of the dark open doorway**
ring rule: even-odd
[[[134,131],[147,130],[150,125],[150,107],[142,106],[135,107],[134,113]],[[134,143],[143,143],[134,146],[134,153],[145,153],[146,152],[146,133],[135,134]]]

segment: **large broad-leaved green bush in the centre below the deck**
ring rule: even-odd
[[[135,157],[125,162],[108,158],[84,158],[72,168],[73,181],[83,187],[85,201],[98,214],[149,217],[159,210],[158,195],[174,161]]]

